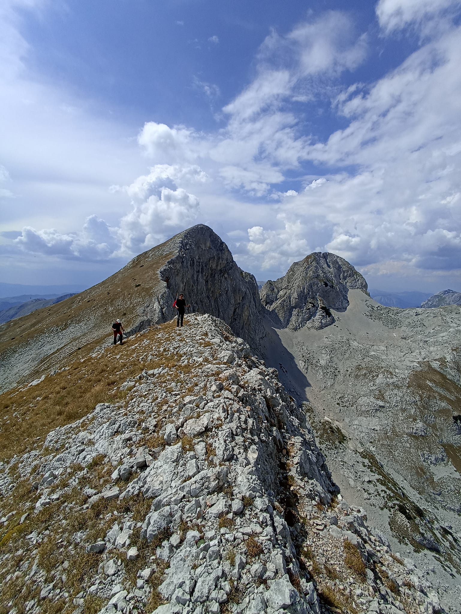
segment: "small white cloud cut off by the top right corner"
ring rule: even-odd
[[[391,32],[459,7],[459,0],[379,0],[376,15],[379,25]]]

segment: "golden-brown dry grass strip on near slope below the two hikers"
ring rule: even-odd
[[[127,393],[118,386],[135,378],[142,370],[177,365],[178,356],[159,349],[168,341],[174,322],[158,325],[141,336],[149,341],[154,360],[139,360],[133,346],[139,338],[129,338],[123,346],[110,346],[95,356],[74,360],[69,368],[26,389],[17,387],[0,395],[0,460],[42,443],[47,434],[86,416],[98,403],[123,402]],[[91,346],[85,348],[91,352]],[[187,368],[187,367],[186,367]],[[114,392],[114,389],[117,390]]]

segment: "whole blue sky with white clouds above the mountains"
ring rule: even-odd
[[[0,281],[205,223],[258,280],[329,251],[461,290],[460,30],[459,0],[2,0]]]

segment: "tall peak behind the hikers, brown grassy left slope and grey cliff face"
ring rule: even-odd
[[[0,325],[0,390],[62,368],[105,343],[114,319],[128,334],[169,321],[184,292],[192,311],[211,313],[258,348],[265,334],[255,278],[234,262],[225,243],[199,224],[131,260],[78,295]]]

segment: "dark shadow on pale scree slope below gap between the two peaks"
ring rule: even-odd
[[[266,361],[266,365],[279,371],[281,383],[298,403],[303,401],[309,402],[306,388],[310,388],[311,384],[303,371],[298,367],[295,356],[287,348],[287,344],[282,342],[277,332],[284,330],[284,327],[274,322],[274,319],[268,316],[263,318],[263,324],[266,336],[261,340],[260,351],[261,356]]]

